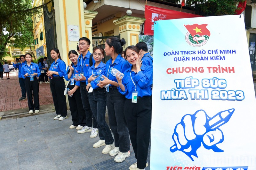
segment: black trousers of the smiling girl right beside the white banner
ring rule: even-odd
[[[139,169],[144,169],[147,163],[151,110],[150,97],[139,98],[137,103],[132,103],[131,99],[124,102],[124,116]]]

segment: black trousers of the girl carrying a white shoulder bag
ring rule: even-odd
[[[72,90],[74,87],[75,85],[70,85],[70,81],[69,81],[68,88]],[[73,125],[83,126],[82,121],[84,119],[85,112],[84,112],[83,103],[81,99],[80,87],[76,89],[76,92],[73,93],[72,97],[68,96],[68,103],[70,107]]]

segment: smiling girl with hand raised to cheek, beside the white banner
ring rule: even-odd
[[[124,78],[116,76],[119,92],[125,95],[124,116],[128,124],[130,139],[137,162],[130,169],[144,169],[147,164],[151,124],[151,98],[153,68],[141,64],[143,54],[135,46],[124,51],[132,66],[124,71]]]

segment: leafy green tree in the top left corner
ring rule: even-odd
[[[34,39],[32,16],[46,5],[32,8],[31,3],[32,0],[0,0],[0,60],[7,43],[21,49],[31,47]]]

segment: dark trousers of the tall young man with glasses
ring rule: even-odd
[[[81,98],[82,103],[85,111],[85,117],[84,117],[84,124],[88,127],[92,127],[92,117],[93,117],[93,128],[98,128],[98,124],[92,115],[92,110],[90,107],[89,99],[88,99],[88,91],[86,90],[86,83],[80,82],[80,92],[81,92]]]

